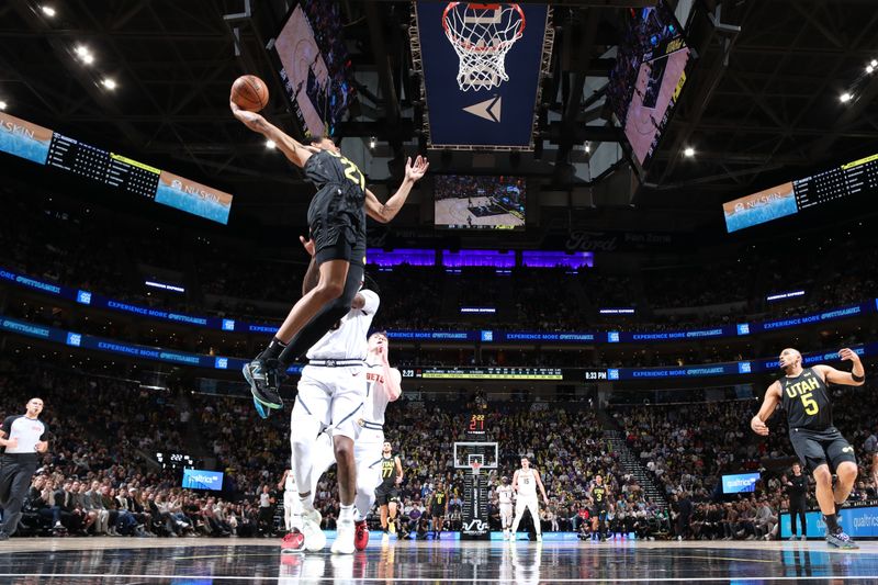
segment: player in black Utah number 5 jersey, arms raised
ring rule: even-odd
[[[842,349],[838,357],[854,364],[851,372],[823,364],[802,368],[801,353],[791,348],[781,351],[778,364],[786,376],[768,386],[762,408],[750,426],[757,435],[768,435],[765,421],[780,403],[787,412],[792,449],[817,481],[817,500],[826,522],[826,542],[842,549],[856,549],[858,547],[838,526],[837,514],[854,487],[857,460],[854,448],[832,425],[826,384],[862,386],[866,374],[859,356],[851,349]],[[832,471],[838,477],[834,490]]]

